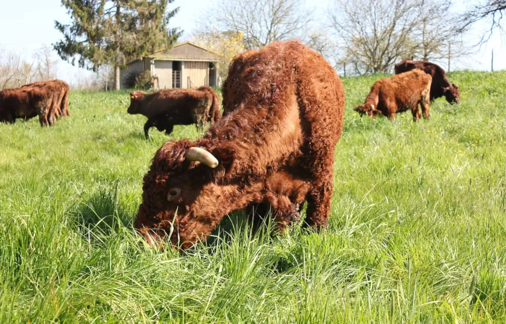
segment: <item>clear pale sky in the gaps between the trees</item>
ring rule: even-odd
[[[198,20],[205,17],[206,10],[216,6],[218,0],[175,0],[169,9],[180,8],[179,13],[171,19],[171,27],[184,30],[182,40],[187,40],[195,30]],[[238,0],[240,1],[240,0]],[[307,0],[308,6],[315,7],[317,20],[325,17],[325,10],[332,0]],[[459,12],[471,4],[469,0],[454,1],[454,10]],[[54,28],[54,21],[69,22],[66,10],[61,7],[60,0],[0,0],[0,49],[15,51],[23,55],[27,61],[33,59],[33,53],[44,45],[50,46],[58,41],[61,34]],[[489,21],[475,24],[465,36],[465,41],[475,44],[483,32],[489,27]],[[477,53],[469,57],[460,58],[452,62],[454,69],[488,70],[492,50],[494,51],[494,70],[506,69],[506,39],[498,31],[494,32],[490,40]],[[55,58],[57,55],[55,53]],[[499,59],[501,58],[501,59]],[[443,65],[446,69],[446,65]],[[57,69],[58,78],[69,83],[91,75],[91,72],[60,60]]]

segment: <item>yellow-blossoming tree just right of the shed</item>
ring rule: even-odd
[[[237,54],[244,50],[244,36],[235,31],[200,31],[191,37],[191,41],[213,51],[220,56],[218,62],[219,77],[223,80],[228,75],[228,66]]]

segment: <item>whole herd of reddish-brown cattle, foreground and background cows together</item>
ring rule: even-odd
[[[429,117],[430,101],[459,103],[458,87],[428,62],[402,61],[396,75],[374,83],[360,114],[375,117],[411,110]],[[0,120],[39,116],[41,125],[68,116],[68,85],[38,82],[0,92]],[[334,148],[343,129],[345,94],[335,70],[297,41],[274,42],[232,61],[218,94],[209,88],[130,94],[130,114],[172,132],[175,124],[212,124],[196,141],[168,141],[143,180],[135,227],[153,246],[186,249],[222,218],[246,209],[254,225],[272,211],[279,230],[299,221],[326,226],[333,190]]]

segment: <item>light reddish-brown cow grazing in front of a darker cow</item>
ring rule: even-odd
[[[393,75],[374,82],[363,105],[355,107],[360,115],[376,117],[383,114],[394,119],[396,113],[411,110],[413,120],[420,118],[418,104],[424,118],[430,115],[430,89],[432,77],[420,70]]]

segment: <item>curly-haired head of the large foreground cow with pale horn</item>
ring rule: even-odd
[[[234,149],[222,145],[211,151],[180,140],[156,152],[135,220],[150,245],[168,239],[186,249],[205,240],[227,213],[245,207],[247,194],[237,195],[240,181],[230,181]]]

